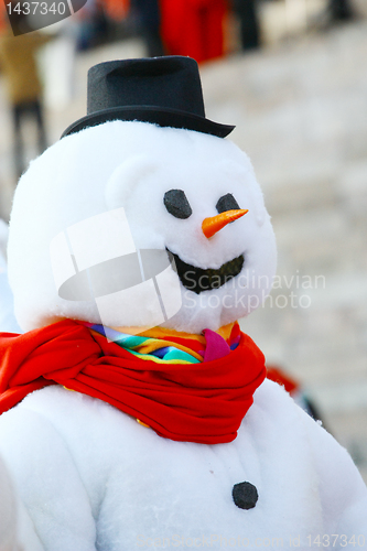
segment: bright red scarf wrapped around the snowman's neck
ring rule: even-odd
[[[235,440],[266,377],[263,355],[244,333],[219,359],[162,365],[71,320],[24,335],[0,334],[0,413],[58,383],[115,406],[160,436],[202,444]]]

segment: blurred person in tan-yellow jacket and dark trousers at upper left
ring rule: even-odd
[[[15,2],[13,2],[15,3]],[[21,34],[26,17],[22,13],[17,18],[14,29],[9,24],[0,34],[0,67],[3,74],[11,105],[14,140],[14,170],[17,179],[25,169],[22,125],[28,117],[32,118],[37,128],[37,148],[40,154],[45,150],[46,132],[42,106],[42,84],[39,77],[36,52],[51,40],[50,35],[39,32]]]

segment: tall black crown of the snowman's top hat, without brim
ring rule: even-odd
[[[168,56],[105,62],[89,69],[88,115],[142,106],[205,117],[197,63]]]

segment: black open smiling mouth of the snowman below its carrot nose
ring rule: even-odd
[[[203,268],[187,264],[179,255],[171,252],[169,249],[166,250],[174,259],[176,271],[183,287],[196,294],[203,291],[211,291],[212,289],[219,289],[219,287],[240,273],[245,262],[244,255],[240,255],[225,262],[217,270],[214,268],[204,270]]]

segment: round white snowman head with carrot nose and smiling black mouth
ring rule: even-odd
[[[199,333],[270,291],[274,236],[231,127],[151,117],[82,119],[21,179],[9,277],[24,329],[71,317]]]

